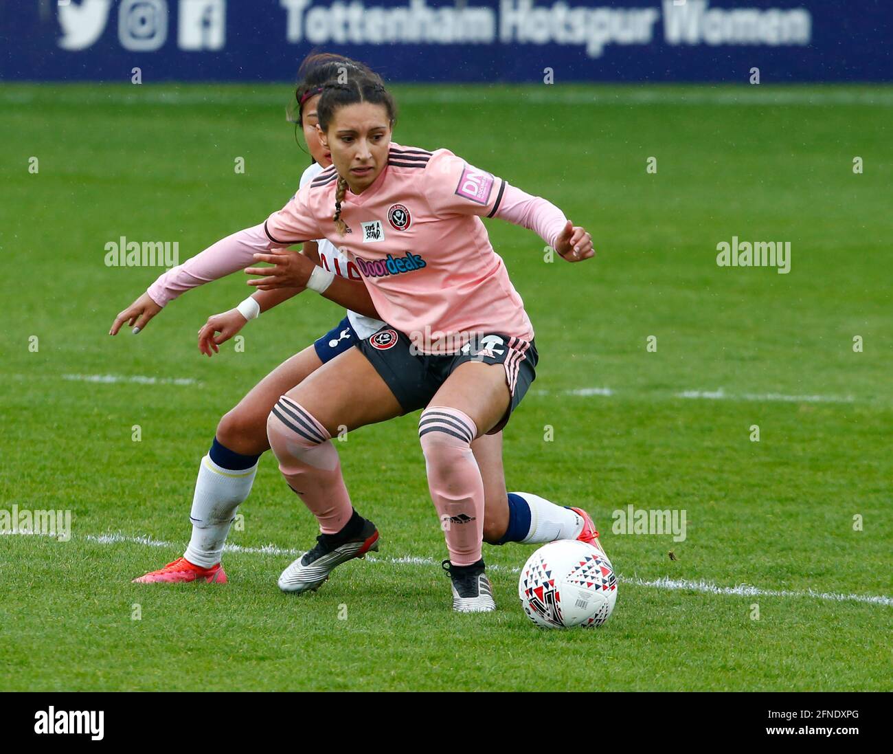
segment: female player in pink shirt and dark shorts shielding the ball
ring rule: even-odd
[[[280,587],[316,589],[378,541],[374,524],[351,504],[331,435],[423,408],[419,437],[431,498],[448,524],[443,565],[453,607],[489,611],[496,606],[481,557],[484,485],[471,445],[505,426],[538,356],[521,297],[480,216],[536,230],[569,261],[593,256],[592,241],[555,205],[446,149],[392,143],[395,110],[377,77],[325,85],[318,130],[333,165],[263,225],[276,247],[321,236],[340,242],[388,323],[271,411],[267,432],[280,471],[322,532]]]

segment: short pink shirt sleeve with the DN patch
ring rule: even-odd
[[[431,212],[438,217],[491,217],[502,199],[505,181],[466,163],[448,149],[438,149],[425,165],[422,186]]]

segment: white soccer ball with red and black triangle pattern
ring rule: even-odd
[[[617,601],[617,577],[598,548],[580,540],[549,542],[521,569],[518,596],[542,628],[605,623]]]

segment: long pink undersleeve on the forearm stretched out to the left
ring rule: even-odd
[[[273,245],[263,231],[263,225],[239,230],[183,264],[171,267],[149,286],[146,293],[158,306],[165,306],[184,291],[250,267],[255,262],[255,254],[263,254],[271,248]]]

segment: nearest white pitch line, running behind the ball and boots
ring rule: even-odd
[[[179,548],[182,544],[176,542],[166,542],[163,540],[154,540],[151,537],[130,537],[121,533],[113,534],[86,534],[83,539],[97,542],[102,545],[109,544],[138,544],[145,547],[154,548]],[[241,545],[224,544],[224,552],[242,553],[246,555],[288,555],[298,557],[303,555],[305,550],[280,548],[276,545],[269,544],[260,548],[242,547]],[[404,556],[404,557],[375,557],[368,556],[367,560],[372,563],[389,563],[391,565],[438,565],[438,561],[430,557]],[[521,573],[520,567],[511,567],[506,565],[489,565],[494,571],[507,571],[510,574]],[[738,586],[719,586],[712,582],[689,581],[688,579],[671,579],[669,576],[662,576],[655,581],[646,581],[638,576],[628,577],[617,574],[617,578],[622,583],[630,583],[635,586],[647,587],[649,589],[662,589],[671,591],[700,591],[705,594],[722,594],[733,595],[736,597],[812,597],[814,599],[822,599],[827,602],[864,602],[870,605],[885,605],[893,607],[893,597],[887,597],[882,594],[841,594],[830,591],[808,590],[788,590],[788,589],[761,589],[751,586],[750,584],[739,584]]]

